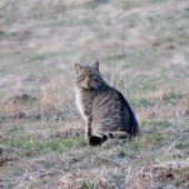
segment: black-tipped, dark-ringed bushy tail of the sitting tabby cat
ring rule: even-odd
[[[132,137],[138,136],[138,133],[139,133],[139,129],[133,135],[129,135],[128,132],[125,132],[125,131],[98,133],[98,135],[92,136],[89,139],[89,145],[90,146],[101,145],[108,139],[131,139]]]

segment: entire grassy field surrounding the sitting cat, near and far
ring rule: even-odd
[[[189,187],[189,1],[1,0],[0,26],[0,188]],[[88,146],[73,63],[96,59],[143,136]]]

